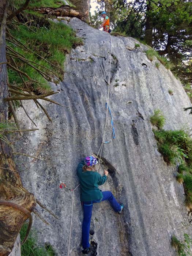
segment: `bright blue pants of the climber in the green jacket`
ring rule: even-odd
[[[103,198],[101,200],[83,202],[83,225],[82,225],[82,247],[83,247],[83,249],[90,247],[89,231],[90,231],[93,203],[99,203],[99,202],[108,200],[115,212],[118,212],[121,210],[121,206],[117,202],[115,197],[113,196],[112,192],[105,191],[105,192],[102,192],[102,194],[103,194]]]

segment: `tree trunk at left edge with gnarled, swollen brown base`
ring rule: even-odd
[[[8,120],[5,29],[8,1],[0,1],[0,123]],[[23,188],[12,148],[0,140],[0,256],[10,254],[23,222],[35,207],[33,194]]]

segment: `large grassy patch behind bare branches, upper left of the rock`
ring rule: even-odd
[[[35,25],[36,23],[34,22],[30,27],[33,31],[23,25],[17,26],[17,29],[10,30],[11,34],[18,41],[31,49],[34,53],[22,49],[11,42],[7,42],[7,45],[15,50],[15,52],[22,54],[22,56],[39,71],[47,74],[50,77],[48,80],[58,83],[59,80],[62,80],[64,77],[65,54],[69,53],[73,47],[82,44],[82,41],[80,38],[75,37],[75,32],[69,26],[63,23],[54,23],[44,19],[41,23],[41,27],[36,27]],[[44,59],[40,58],[35,53],[40,54]],[[7,58],[8,61],[11,62],[9,55]],[[48,63],[45,59],[52,64]],[[30,89],[32,91],[41,94],[51,90],[47,79],[41,76],[37,70],[17,57],[14,57],[14,60],[21,71],[27,73],[31,79],[37,81],[30,82]],[[8,78],[10,84],[23,84],[19,74],[10,68],[8,68]],[[29,82],[25,76],[23,76],[23,79],[25,82]]]

